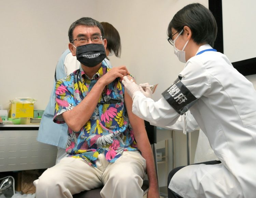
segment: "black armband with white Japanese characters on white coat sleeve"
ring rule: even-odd
[[[173,84],[162,93],[163,98],[172,108],[183,115],[197,101],[197,98],[188,88],[177,78]]]

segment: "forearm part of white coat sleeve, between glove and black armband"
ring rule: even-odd
[[[132,112],[154,126],[173,125],[180,116],[163,97],[155,102],[141,92],[133,99]]]

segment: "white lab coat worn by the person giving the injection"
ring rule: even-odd
[[[209,48],[203,45],[198,52]],[[169,188],[184,198],[255,198],[256,91],[252,83],[225,55],[214,51],[191,57],[180,76],[198,98],[190,112],[222,163],[186,166],[176,172]],[[157,126],[171,126],[180,116],[163,97],[154,102],[140,92],[132,111]]]

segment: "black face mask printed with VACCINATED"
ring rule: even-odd
[[[76,59],[87,67],[95,67],[106,57],[106,51],[102,44],[86,44],[76,48]]]

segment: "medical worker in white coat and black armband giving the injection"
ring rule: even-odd
[[[123,80],[133,113],[152,125],[171,126],[189,109],[219,159],[173,172],[169,197],[256,197],[256,91],[211,47],[216,33],[207,8],[198,3],[183,7],[169,23],[168,40],[186,65],[162,98],[155,102],[136,83]]]

